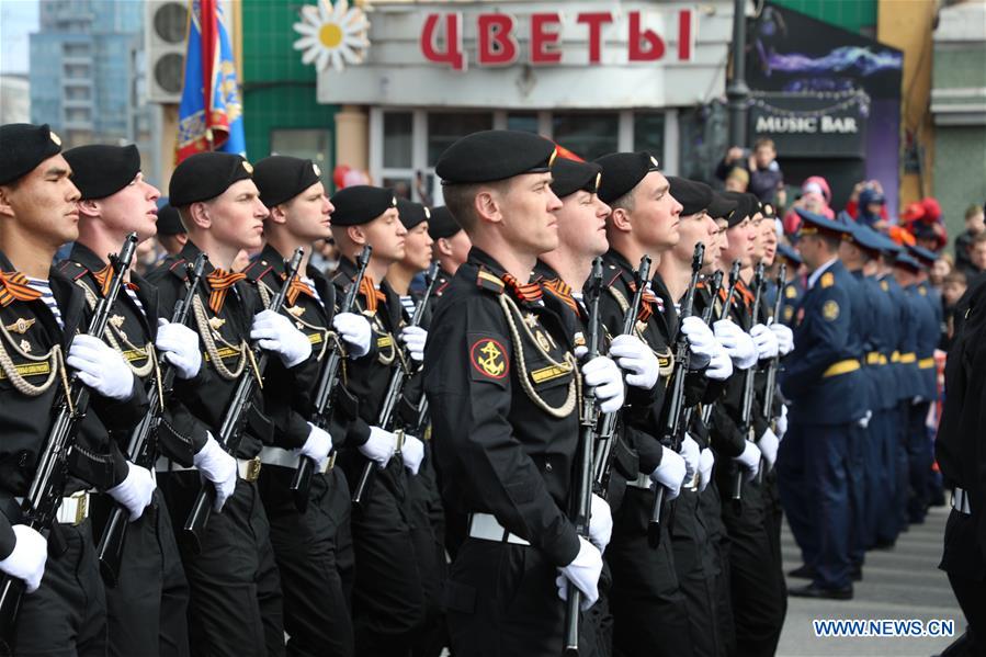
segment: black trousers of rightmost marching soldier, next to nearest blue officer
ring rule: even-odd
[[[775,540],[771,535],[773,521],[766,512],[763,490],[755,482],[744,483],[739,509],[732,496],[725,495],[723,522],[729,536],[736,655],[769,657],[777,652],[787,605],[787,590],[777,563],[780,554],[775,554]]]

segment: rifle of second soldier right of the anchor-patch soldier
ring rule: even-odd
[[[678,314],[679,326],[692,315],[692,308],[695,304],[695,287],[699,285],[699,272],[702,271],[702,261],[705,260],[705,245],[699,242],[695,245],[695,251],[692,254],[692,280],[689,282],[688,292],[684,293],[684,301],[681,302],[681,311]],[[684,422],[681,416],[684,410],[684,378],[688,376],[688,367],[691,362],[691,352],[688,347],[688,337],[679,328],[675,343],[675,373],[671,375],[671,383],[668,385],[668,415],[664,427],[664,441],[670,441],[671,449],[676,452],[681,449],[681,441],[684,440]],[[661,442],[664,442],[661,441]],[[665,487],[656,486],[654,490],[654,507],[650,509],[650,522],[647,523],[647,543],[650,547],[660,545],[660,512],[665,501]]]

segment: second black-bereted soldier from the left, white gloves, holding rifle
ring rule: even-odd
[[[59,270],[82,290],[91,309],[110,271],[106,253],[123,243],[131,231],[136,231],[141,241],[154,236],[155,201],[160,192],[144,180],[136,146],[80,146],[66,151],[65,159],[72,168],[72,182],[81,200],[79,239]],[[160,383],[156,351],[166,354],[180,378],[196,376],[202,366],[194,331],[159,319],[157,290],[134,271],[114,304],[104,339],[126,359],[146,390]],[[173,423],[174,418],[168,421]],[[92,416],[83,427],[106,434]],[[127,449],[128,432],[111,435],[118,450]],[[127,469],[118,489],[93,499],[97,540],[114,500],[128,508],[134,507],[132,500],[139,500],[147,507],[132,508],[121,571],[114,586],[106,587],[110,654],[188,655],[189,584],[165,497],[149,469],[129,462]]]

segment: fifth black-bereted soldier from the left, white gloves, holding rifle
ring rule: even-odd
[[[374,463],[373,484],[353,509],[355,547],[353,623],[358,655],[409,655],[424,627],[424,575],[411,528],[408,477],[417,474],[424,445],[396,427],[379,427],[379,412],[397,367],[417,369],[423,329],[404,326],[400,301],[384,281],[389,267],[404,258],[407,230],[393,191],[369,185],[344,188],[332,196],[332,236],[340,251],[332,283],[341,296],[352,283],[355,259],[365,245],[373,256],[356,305],[370,320],[373,358],[348,364],[347,389],[359,400],[345,449],[339,460],[351,489],[365,464]],[[398,340],[407,346],[401,349]],[[398,441],[403,440],[403,444]],[[396,456],[395,456],[396,453]]]

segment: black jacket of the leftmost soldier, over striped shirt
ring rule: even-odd
[[[2,252],[0,271],[13,271]],[[64,329],[42,299],[12,301],[0,306],[0,347],[7,356],[0,359],[0,558],[5,558],[15,543],[11,524],[20,522],[20,514],[13,498],[27,494],[55,419],[53,405],[64,389],[64,358],[76,333],[88,328],[82,291],[54,268],[48,273],[48,283],[61,311]],[[55,347],[60,350],[60,358],[54,354]],[[21,393],[14,386],[12,375],[23,378],[35,390],[26,395]],[[54,377],[52,384],[42,390],[50,377]],[[133,428],[147,409],[147,397],[136,384],[129,399],[117,401],[97,394],[90,399],[90,412],[95,411],[113,430]],[[72,477],[65,495],[90,485],[112,487],[118,480],[121,468],[125,467],[118,454],[111,451],[105,437],[91,439],[86,432],[79,433],[68,463]]]

